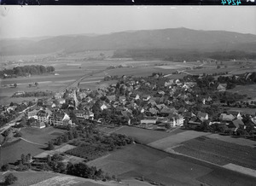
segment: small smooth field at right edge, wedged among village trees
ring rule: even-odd
[[[247,95],[248,97],[252,97],[253,99],[256,98],[256,84],[247,84],[244,86],[237,85],[234,89],[227,91],[240,95]]]

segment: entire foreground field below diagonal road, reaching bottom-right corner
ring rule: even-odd
[[[102,168],[103,171],[108,171],[121,179],[144,177],[145,180],[168,186],[205,185],[205,183],[212,186],[231,184],[253,186],[255,183],[253,177],[139,144],[127,146],[87,164]]]

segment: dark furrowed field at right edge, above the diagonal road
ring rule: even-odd
[[[209,137],[183,142],[174,151],[224,166],[233,163],[256,170],[256,149]]]

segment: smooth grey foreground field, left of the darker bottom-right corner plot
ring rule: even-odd
[[[188,162],[169,157],[168,154],[148,148],[143,145],[131,145],[113,152],[104,159],[92,160],[90,166],[102,168],[110,174],[117,175],[121,179],[129,177],[145,177],[165,185],[199,185],[195,177],[200,177],[211,169],[203,166],[196,166]],[[171,168],[172,167],[172,168]],[[190,168],[194,171],[190,171]],[[180,176],[180,173],[183,176]],[[193,184],[194,183],[194,184]]]

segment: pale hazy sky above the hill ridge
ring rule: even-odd
[[[0,6],[0,38],[186,27],[256,35],[253,6]]]

